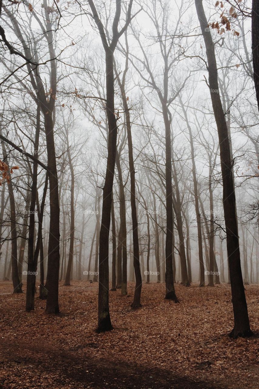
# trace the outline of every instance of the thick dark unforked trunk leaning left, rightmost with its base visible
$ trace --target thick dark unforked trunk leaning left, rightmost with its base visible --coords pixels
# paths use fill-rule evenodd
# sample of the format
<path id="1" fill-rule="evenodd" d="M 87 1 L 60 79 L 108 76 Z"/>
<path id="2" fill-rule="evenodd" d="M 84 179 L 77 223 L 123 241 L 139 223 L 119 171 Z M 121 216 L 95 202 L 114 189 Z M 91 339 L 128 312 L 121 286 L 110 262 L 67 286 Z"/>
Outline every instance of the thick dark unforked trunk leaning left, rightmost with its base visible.
<path id="1" fill-rule="evenodd" d="M 240 263 L 235 187 L 233 183 L 233 175 L 231 172 L 233 161 L 231 161 L 228 128 L 224 116 L 224 111 L 222 109 L 221 97 L 219 95 L 215 47 L 210 30 L 208 28 L 208 21 L 203 9 L 202 0 L 195 0 L 195 5 L 201 26 L 201 33 L 203 35 L 206 47 L 209 75 L 208 83 L 219 135 L 223 186 L 223 209 L 226 225 L 229 273 L 234 311 L 234 328 L 231 331 L 230 336 L 235 338 L 237 336 L 251 336 L 252 331 L 249 324 L 247 302 L 245 298 Z"/>

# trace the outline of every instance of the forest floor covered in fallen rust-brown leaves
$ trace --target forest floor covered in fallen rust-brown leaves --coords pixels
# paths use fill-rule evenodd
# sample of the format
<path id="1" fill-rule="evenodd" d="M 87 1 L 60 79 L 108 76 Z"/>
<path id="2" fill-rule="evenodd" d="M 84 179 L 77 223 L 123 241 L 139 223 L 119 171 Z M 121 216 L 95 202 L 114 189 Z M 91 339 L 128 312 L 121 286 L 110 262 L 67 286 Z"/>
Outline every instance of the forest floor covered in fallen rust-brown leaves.
<path id="1" fill-rule="evenodd" d="M 164 300 L 164 284 L 143 284 L 135 311 L 133 283 L 128 296 L 110 292 L 114 330 L 98 334 L 97 283 L 60 285 L 61 314 L 49 316 L 39 298 L 25 312 L 25 293 L 1 282 L 0 388 L 258 389 L 258 335 L 228 337 L 230 286 L 175 288 L 180 304 Z M 246 296 L 258 331 L 259 286 Z"/>

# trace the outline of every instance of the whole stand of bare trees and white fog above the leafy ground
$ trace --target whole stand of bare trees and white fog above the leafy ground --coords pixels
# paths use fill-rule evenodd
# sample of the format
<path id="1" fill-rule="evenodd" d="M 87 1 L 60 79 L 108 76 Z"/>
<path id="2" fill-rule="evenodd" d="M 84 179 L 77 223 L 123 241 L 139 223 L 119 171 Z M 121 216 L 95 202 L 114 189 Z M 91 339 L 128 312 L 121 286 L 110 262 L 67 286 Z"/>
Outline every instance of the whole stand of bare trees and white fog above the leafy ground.
<path id="1" fill-rule="evenodd" d="M 251 7 L 1 3 L 0 275 L 26 290 L 27 311 L 35 287 L 58 314 L 59 284 L 98 282 L 97 330 L 107 331 L 109 293 L 126 295 L 129 281 L 132 309 L 145 282 L 165 283 L 175 303 L 176 282 L 230 283 L 231 336 L 252 335 L 243 287 L 259 283 Z"/>

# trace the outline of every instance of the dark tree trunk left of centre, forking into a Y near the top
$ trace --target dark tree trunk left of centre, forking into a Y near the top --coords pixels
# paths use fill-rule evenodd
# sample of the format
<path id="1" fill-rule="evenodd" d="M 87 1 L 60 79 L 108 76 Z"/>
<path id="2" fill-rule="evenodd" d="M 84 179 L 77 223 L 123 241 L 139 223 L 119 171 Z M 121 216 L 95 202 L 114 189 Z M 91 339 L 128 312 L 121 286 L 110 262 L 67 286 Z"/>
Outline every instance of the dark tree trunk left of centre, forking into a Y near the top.
<path id="1" fill-rule="evenodd" d="M 99 293 L 98 293 L 98 327 L 97 331 L 109 331 L 112 329 L 109 312 L 109 232 L 110 214 L 112 207 L 112 186 L 114 180 L 115 158 L 117 148 L 117 121 L 114 109 L 114 50 L 119 37 L 126 31 L 131 20 L 131 7 L 133 0 L 129 1 L 126 23 L 119 32 L 119 19 L 121 16 L 121 0 L 116 2 L 116 11 L 112 24 L 112 40 L 108 44 L 103 24 L 98 16 L 93 0 L 88 0 L 92 17 L 96 23 L 103 48 L 105 50 L 105 75 L 106 75 L 106 114 L 108 119 L 108 157 L 103 187 L 103 209 L 100 230 L 100 251 L 99 251 Z"/>

